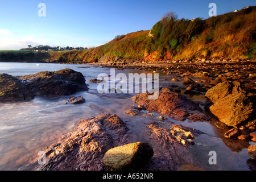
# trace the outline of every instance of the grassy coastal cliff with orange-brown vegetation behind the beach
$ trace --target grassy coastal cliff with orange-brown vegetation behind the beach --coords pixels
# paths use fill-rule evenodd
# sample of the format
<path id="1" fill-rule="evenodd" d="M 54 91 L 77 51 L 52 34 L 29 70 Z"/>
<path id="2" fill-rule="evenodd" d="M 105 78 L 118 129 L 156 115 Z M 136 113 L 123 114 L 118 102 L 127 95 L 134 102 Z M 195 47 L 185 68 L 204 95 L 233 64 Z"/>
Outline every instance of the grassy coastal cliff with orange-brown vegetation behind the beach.
<path id="1" fill-rule="evenodd" d="M 256 6 L 208 19 L 177 19 L 169 13 L 151 30 L 118 35 L 80 51 L 0 52 L 0 61 L 43 63 L 134 63 L 255 58 Z"/>

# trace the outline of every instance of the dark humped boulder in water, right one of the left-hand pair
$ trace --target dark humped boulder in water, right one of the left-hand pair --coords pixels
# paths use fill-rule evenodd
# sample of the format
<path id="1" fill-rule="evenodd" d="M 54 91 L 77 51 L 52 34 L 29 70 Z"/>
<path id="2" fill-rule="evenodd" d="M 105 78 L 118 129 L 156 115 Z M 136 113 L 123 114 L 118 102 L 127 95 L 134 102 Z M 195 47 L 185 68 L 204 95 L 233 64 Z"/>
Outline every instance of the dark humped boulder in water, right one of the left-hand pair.
<path id="1" fill-rule="evenodd" d="M 44 71 L 18 78 L 26 80 L 26 86 L 36 96 L 67 96 L 88 90 L 82 73 L 73 71 L 73 69 L 61 69 L 55 72 Z"/>

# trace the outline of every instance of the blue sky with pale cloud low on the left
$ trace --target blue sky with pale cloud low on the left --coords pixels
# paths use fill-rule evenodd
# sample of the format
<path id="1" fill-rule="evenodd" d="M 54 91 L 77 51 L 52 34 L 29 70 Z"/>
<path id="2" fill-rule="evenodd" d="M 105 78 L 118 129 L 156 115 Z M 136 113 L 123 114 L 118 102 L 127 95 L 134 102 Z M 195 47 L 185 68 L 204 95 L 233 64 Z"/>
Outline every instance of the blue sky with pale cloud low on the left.
<path id="1" fill-rule="evenodd" d="M 116 35 L 150 30 L 162 16 L 174 11 L 178 18 L 209 18 L 209 3 L 217 15 L 255 6 L 255 0 L 0 0 L 0 50 L 20 49 L 31 44 L 96 47 Z M 46 16 L 38 16 L 39 3 Z"/>

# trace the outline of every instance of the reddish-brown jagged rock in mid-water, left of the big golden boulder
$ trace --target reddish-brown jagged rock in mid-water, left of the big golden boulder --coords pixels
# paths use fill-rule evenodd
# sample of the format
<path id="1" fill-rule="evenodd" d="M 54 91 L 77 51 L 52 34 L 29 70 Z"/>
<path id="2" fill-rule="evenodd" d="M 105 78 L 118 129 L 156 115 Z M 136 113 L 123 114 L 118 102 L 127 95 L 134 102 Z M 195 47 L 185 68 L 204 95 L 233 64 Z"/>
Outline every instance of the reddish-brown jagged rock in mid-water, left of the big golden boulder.
<path id="1" fill-rule="evenodd" d="M 199 105 L 168 88 L 162 88 L 156 100 L 148 100 L 148 93 L 139 93 L 133 97 L 133 101 L 146 110 L 164 114 L 177 121 L 184 121 L 186 118 L 191 121 L 209 119 Z"/>

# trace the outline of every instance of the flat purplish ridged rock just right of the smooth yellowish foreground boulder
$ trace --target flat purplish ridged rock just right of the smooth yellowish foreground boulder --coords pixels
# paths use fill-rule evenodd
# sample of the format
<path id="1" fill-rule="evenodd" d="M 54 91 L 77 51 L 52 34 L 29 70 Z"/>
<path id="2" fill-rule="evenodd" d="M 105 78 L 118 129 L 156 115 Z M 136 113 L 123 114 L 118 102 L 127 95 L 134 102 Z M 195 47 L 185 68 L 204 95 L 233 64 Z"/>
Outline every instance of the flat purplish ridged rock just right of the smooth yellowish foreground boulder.
<path id="1" fill-rule="evenodd" d="M 192 143 L 190 141 L 184 142 L 184 140 L 204 134 L 203 132 L 180 125 L 174 125 L 172 129 L 168 130 L 158 122 L 151 122 L 148 123 L 146 133 L 151 140 L 159 145 L 161 150 L 155 152 L 151 159 L 151 166 L 148 166 L 148 169 L 176 170 L 183 164 L 199 166 L 187 148 Z"/>

